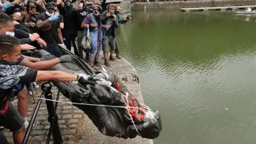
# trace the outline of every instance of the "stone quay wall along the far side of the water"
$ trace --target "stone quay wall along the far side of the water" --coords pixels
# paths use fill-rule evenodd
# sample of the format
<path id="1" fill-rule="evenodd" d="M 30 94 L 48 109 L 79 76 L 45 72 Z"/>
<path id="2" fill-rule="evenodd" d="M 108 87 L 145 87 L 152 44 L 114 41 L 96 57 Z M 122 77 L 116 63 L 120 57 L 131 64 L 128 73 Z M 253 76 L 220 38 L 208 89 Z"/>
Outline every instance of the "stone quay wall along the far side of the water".
<path id="1" fill-rule="evenodd" d="M 158 3 L 132 3 L 131 9 L 171 9 L 188 7 L 220 7 L 220 6 L 243 6 L 256 5 L 255 0 L 209 0 L 209 1 L 176 1 L 176 2 L 158 2 Z"/>

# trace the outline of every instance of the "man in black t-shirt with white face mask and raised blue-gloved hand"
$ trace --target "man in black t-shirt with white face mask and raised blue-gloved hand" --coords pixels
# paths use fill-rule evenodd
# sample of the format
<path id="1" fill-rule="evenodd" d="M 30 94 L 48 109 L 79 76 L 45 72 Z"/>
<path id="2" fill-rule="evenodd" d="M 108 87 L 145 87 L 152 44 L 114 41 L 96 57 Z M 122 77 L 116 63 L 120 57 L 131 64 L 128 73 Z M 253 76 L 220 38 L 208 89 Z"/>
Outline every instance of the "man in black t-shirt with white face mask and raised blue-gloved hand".
<path id="1" fill-rule="evenodd" d="M 61 46 L 66 47 L 61 35 L 60 21 L 58 20 L 58 15 L 54 15 L 54 4 L 47 3 L 45 7 L 46 12 L 40 14 L 36 21 L 38 33 L 47 43 L 47 46 L 42 47 L 42 49 L 59 58 L 61 57 L 61 51 L 58 46 L 58 41 L 61 43 Z"/>

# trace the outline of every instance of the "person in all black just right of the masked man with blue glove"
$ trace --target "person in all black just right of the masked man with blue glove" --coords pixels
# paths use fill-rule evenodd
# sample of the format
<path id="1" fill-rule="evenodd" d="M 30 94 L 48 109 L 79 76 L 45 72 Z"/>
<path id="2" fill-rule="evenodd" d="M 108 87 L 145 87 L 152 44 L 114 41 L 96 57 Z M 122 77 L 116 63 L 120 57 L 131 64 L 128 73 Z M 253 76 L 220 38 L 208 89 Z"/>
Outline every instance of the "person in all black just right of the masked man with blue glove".
<path id="1" fill-rule="evenodd" d="M 71 18 L 70 16 L 71 12 L 75 11 L 75 9 L 71 4 L 72 4 L 71 0 L 57 2 L 59 12 L 60 14 L 63 15 L 64 23 L 65 23 L 65 27 L 62 30 L 63 41 L 67 46 L 68 50 L 71 50 L 71 43 L 72 43 L 74 47 L 74 52 L 79 57 L 76 44 L 75 44 L 77 31 L 76 31 L 76 28 L 74 27 L 75 22 L 73 21 L 73 18 Z"/>

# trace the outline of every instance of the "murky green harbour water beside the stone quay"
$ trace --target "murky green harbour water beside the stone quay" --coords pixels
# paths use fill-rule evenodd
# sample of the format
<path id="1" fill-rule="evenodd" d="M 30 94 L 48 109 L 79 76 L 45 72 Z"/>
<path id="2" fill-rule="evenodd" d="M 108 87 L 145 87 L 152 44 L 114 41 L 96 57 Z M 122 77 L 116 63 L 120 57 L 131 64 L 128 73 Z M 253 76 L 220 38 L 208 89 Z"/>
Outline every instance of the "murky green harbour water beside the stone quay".
<path id="1" fill-rule="evenodd" d="M 136 10 L 116 30 L 147 106 L 154 143 L 256 143 L 256 15 Z"/>

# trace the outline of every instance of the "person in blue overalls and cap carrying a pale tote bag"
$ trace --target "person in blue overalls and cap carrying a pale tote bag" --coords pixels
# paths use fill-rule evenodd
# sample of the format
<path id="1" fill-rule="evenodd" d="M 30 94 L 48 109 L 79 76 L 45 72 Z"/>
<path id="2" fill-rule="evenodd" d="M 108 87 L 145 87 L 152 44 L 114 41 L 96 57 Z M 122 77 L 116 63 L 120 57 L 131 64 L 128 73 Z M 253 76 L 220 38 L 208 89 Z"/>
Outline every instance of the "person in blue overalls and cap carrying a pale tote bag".
<path id="1" fill-rule="evenodd" d="M 90 29 L 90 38 L 91 38 L 91 52 L 89 56 L 89 65 L 91 67 L 98 65 L 99 63 L 99 55 L 100 48 L 102 42 L 102 28 L 106 28 L 106 26 L 102 26 L 100 19 L 101 5 L 94 4 L 93 13 L 87 15 L 81 25 L 81 28 L 84 28 L 84 36 L 87 35 L 87 29 Z"/>

